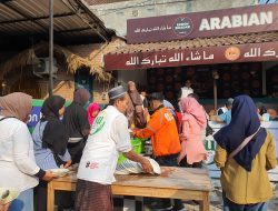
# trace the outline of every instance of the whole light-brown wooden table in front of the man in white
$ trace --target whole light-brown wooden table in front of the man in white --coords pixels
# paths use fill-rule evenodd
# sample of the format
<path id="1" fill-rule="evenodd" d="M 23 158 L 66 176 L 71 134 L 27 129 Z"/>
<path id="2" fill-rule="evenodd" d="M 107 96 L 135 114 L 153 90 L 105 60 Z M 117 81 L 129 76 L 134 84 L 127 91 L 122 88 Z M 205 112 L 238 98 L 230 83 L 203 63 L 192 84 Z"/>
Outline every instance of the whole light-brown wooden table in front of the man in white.
<path id="1" fill-rule="evenodd" d="M 117 182 L 112 184 L 112 193 L 196 200 L 200 202 L 201 211 L 209 211 L 209 192 L 212 185 L 207 170 L 163 167 L 162 172 L 161 175 L 116 175 Z M 76 173 L 71 173 L 48 183 L 48 211 L 54 209 L 54 191 L 75 191 L 76 182 Z"/>

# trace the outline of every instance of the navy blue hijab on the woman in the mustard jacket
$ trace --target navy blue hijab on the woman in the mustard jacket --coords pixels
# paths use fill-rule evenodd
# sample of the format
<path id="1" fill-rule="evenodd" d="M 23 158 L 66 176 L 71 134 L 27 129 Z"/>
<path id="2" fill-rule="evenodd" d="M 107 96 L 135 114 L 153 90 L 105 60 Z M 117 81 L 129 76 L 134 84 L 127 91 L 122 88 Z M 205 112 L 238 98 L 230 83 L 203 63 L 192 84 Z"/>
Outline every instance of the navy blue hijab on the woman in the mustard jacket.
<path id="1" fill-rule="evenodd" d="M 222 149 L 231 153 L 247 137 L 254 134 L 259 127 L 260 121 L 252 99 L 248 96 L 239 96 L 235 98 L 232 103 L 231 122 L 220 129 L 214 138 Z M 237 163 L 247 171 L 251 171 L 251 162 L 259 153 L 266 137 L 266 129 L 260 128 L 251 141 L 234 157 Z"/>

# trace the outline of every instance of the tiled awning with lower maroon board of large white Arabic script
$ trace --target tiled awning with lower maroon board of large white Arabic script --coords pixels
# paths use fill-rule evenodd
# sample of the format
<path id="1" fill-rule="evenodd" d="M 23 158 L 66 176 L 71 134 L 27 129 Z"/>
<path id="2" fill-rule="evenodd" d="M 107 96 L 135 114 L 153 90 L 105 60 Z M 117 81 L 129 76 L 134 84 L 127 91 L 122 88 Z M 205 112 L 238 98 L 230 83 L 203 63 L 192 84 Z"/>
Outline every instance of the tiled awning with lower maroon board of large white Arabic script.
<path id="1" fill-rule="evenodd" d="M 105 56 L 105 70 L 278 60 L 278 32 L 127 44 Z"/>

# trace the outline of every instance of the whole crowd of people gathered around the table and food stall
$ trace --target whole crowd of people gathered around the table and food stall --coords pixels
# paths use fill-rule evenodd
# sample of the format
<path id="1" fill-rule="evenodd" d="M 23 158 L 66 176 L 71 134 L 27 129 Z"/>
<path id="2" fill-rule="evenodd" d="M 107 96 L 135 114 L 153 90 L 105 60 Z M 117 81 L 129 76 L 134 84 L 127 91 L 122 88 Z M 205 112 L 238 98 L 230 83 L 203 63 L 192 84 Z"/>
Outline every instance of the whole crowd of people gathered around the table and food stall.
<path id="1" fill-rule="evenodd" d="M 179 109 L 160 92 L 146 94 L 142 89 L 139 93 L 132 81 L 128 90 L 122 86 L 110 89 L 110 101 L 103 109 L 96 102 L 89 104 L 91 96 L 85 88 L 75 91 L 67 108 L 62 97 L 51 96 L 43 102 L 42 118 L 32 134 L 27 127 L 32 98 L 21 92 L 1 97 L 0 188 L 13 188 L 20 194 L 8 204 L 0 203 L 0 211 L 47 210 L 47 183 L 56 178 L 51 169 L 75 163 L 79 163 L 75 200 L 61 193 L 58 205 L 111 211 L 119 153 L 140 163 L 146 173 L 153 171 L 148 159 L 132 151 L 130 133 L 151 139 L 152 158 L 160 165 L 203 168 L 203 141 L 212 133 L 209 119 L 227 123 L 214 134 L 224 210 L 267 210 L 272 197 L 267 170 L 274 169 L 277 160 L 274 138 L 260 127 L 262 108 L 250 97 L 238 96 L 209 117 L 189 89 L 190 81 L 187 83 Z M 150 209 L 182 211 L 185 207 L 179 199 L 153 199 Z"/>

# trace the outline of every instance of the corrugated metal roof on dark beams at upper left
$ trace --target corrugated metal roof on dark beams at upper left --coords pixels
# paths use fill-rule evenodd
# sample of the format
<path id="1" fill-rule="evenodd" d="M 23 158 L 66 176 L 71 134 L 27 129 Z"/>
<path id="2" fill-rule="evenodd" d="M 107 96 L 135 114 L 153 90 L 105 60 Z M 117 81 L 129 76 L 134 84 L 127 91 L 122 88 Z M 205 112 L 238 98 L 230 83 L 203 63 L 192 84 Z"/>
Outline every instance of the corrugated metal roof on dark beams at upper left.
<path id="1" fill-rule="evenodd" d="M 53 1 L 54 41 L 100 42 L 113 32 L 81 0 Z M 49 31 L 48 0 L 0 0 L 0 46 L 12 37 L 44 36 Z"/>

